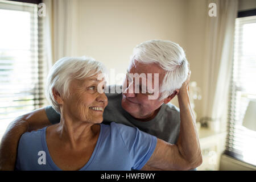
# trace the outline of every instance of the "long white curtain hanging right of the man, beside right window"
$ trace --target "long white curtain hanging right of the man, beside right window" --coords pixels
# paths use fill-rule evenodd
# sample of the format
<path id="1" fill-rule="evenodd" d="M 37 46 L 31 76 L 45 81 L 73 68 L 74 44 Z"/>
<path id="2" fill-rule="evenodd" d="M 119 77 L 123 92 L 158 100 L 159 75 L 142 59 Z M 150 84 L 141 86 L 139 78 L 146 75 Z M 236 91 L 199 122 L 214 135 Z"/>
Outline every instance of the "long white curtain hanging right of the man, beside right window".
<path id="1" fill-rule="evenodd" d="M 217 5 L 217 16 L 207 16 L 202 108 L 210 128 L 220 131 L 225 130 L 223 123 L 228 109 L 238 1 L 215 0 L 208 1 L 208 5 L 212 2 Z"/>

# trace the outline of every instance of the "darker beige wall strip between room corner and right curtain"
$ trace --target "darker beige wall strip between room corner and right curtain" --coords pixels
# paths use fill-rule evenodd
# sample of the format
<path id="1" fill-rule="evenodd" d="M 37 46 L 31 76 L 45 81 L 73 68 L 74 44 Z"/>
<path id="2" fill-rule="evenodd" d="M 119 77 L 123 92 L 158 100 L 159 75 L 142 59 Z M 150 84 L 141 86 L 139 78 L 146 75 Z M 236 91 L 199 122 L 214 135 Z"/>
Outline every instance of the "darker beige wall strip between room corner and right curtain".
<path id="1" fill-rule="evenodd" d="M 205 20 L 208 16 L 207 1 L 188 0 L 185 3 L 185 46 L 183 47 L 191 68 L 191 81 L 196 81 L 197 86 L 203 87 L 203 64 L 205 43 Z M 205 99 L 205 98 L 203 98 Z M 171 101 L 178 106 L 177 98 Z M 202 117 L 202 101 L 195 100 L 197 120 Z"/>

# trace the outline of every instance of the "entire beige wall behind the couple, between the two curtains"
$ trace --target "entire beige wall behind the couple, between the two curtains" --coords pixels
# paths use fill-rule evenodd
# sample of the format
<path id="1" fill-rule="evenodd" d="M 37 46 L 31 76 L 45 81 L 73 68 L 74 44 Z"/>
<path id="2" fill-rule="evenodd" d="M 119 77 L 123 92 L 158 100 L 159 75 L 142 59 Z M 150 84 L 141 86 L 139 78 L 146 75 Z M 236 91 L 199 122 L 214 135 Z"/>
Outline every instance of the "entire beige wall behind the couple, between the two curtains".
<path id="1" fill-rule="evenodd" d="M 79 56 L 102 61 L 115 73 L 125 73 L 133 48 L 146 40 L 171 40 L 184 48 L 191 81 L 203 85 L 205 16 L 202 0 L 79 1 Z M 117 81 L 118 82 L 118 81 Z M 201 101 L 196 113 L 201 117 Z M 175 98 L 172 103 L 178 105 Z"/>

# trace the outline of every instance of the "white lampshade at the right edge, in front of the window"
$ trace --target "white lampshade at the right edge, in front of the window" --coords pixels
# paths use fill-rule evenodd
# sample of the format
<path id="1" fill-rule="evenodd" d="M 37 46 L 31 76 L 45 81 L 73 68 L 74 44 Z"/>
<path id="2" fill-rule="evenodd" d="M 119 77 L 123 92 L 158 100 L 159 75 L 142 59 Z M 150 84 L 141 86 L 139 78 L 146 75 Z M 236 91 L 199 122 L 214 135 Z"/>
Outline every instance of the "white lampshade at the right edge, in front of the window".
<path id="1" fill-rule="evenodd" d="M 243 126 L 249 130 L 256 131 L 256 101 L 251 100 L 247 106 L 245 117 L 243 118 Z"/>

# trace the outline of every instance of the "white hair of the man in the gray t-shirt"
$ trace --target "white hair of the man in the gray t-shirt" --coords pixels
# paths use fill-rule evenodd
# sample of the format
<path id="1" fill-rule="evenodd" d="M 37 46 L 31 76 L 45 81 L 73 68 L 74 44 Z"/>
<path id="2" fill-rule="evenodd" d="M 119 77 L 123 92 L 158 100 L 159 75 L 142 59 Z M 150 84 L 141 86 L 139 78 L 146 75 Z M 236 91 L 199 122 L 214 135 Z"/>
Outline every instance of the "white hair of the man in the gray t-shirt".
<path id="1" fill-rule="evenodd" d="M 167 98 L 176 89 L 180 89 L 188 76 L 188 61 L 183 48 L 167 40 L 150 40 L 136 46 L 131 61 L 139 63 L 156 63 L 165 72 L 162 83 L 159 82 L 159 100 Z M 160 81 L 160 80 L 159 80 Z"/>

